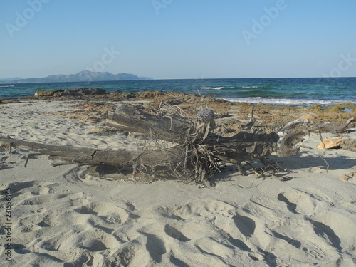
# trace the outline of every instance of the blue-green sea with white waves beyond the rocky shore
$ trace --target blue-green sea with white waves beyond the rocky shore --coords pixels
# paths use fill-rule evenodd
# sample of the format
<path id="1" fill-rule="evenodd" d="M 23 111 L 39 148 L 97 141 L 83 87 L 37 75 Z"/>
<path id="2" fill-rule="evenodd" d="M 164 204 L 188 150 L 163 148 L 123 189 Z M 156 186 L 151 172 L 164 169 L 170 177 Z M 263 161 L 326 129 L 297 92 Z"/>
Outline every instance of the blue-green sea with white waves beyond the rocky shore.
<path id="1" fill-rule="evenodd" d="M 34 95 L 37 90 L 103 88 L 107 93 L 161 90 L 212 95 L 234 102 L 275 105 L 356 104 L 356 78 L 234 78 L 184 80 L 118 80 L 75 83 L 2 83 L 0 98 Z"/>

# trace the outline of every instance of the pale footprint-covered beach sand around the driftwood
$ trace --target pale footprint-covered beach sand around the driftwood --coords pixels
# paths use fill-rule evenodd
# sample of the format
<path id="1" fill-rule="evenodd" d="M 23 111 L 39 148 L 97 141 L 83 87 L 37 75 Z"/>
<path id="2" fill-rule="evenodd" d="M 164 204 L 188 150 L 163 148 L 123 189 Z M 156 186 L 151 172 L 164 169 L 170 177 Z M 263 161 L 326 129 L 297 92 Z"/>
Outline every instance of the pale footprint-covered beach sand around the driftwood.
<path id="1" fill-rule="evenodd" d="M 88 135 L 98 125 L 41 115 L 68 103 L 29 104 L 0 105 L 0 134 L 100 149 L 140 145 Z M 312 135 L 304 145 L 319 142 Z M 1 196 L 1 266 L 354 266 L 356 177 L 345 182 L 342 174 L 356 172 L 356 153 L 327 150 L 327 172 L 323 152 L 272 155 L 290 171 L 279 179 L 242 177 L 229 166 L 216 187 L 199 188 L 98 179 L 85 167 L 51 167 L 46 157 L 24 168 L 27 152 L 3 147 L 0 190 L 11 189 L 12 206 L 9 262 Z"/>

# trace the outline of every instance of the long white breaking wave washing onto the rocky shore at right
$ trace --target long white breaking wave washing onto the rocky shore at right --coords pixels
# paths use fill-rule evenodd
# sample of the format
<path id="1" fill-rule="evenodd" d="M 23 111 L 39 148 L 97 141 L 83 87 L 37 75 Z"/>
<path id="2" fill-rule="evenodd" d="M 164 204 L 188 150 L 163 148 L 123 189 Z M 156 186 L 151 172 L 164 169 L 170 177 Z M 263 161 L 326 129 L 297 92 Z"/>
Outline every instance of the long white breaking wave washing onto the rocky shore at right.
<path id="1" fill-rule="evenodd" d="M 236 103 L 263 103 L 263 104 L 270 104 L 270 105 L 296 105 L 300 107 L 310 107 L 312 105 L 321 105 L 321 106 L 328 106 L 328 105 L 336 105 L 340 103 L 351 102 L 355 103 L 355 100 L 310 100 L 310 99 L 286 99 L 286 98 L 221 98 L 230 102 Z"/>

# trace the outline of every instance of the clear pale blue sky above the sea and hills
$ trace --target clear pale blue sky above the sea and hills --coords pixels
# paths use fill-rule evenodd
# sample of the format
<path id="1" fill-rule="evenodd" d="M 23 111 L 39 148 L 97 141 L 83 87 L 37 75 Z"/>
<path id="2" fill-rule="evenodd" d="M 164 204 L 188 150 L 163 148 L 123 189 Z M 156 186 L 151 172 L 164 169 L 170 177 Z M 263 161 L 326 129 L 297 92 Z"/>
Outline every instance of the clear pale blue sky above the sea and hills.
<path id="1" fill-rule="evenodd" d="M 356 76 L 355 0 L 0 0 L 0 78 Z"/>

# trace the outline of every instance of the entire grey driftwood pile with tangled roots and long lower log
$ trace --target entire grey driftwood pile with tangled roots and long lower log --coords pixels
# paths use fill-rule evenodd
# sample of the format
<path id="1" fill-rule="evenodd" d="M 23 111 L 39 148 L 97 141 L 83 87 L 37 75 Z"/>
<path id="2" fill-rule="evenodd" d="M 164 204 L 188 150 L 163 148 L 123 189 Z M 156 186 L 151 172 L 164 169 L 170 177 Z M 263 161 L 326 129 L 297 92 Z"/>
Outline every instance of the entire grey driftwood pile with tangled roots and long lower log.
<path id="1" fill-rule="evenodd" d="M 176 145 L 157 150 L 94 150 L 89 148 L 61 147 L 0 137 L 2 145 L 23 147 L 37 154 L 49 155 L 54 165 L 111 165 L 131 167 L 133 178 L 175 177 L 185 181 L 204 182 L 214 172 L 219 172 L 226 162 L 236 164 L 241 174 L 246 174 L 241 162 L 259 159 L 268 164 L 266 157 L 276 152 L 280 157 L 295 155 L 295 145 L 303 141 L 308 132 L 291 131 L 293 122 L 283 127 L 283 136 L 276 132 L 253 133 L 241 131 L 233 137 L 221 137 L 215 127 L 214 111 L 201 109 L 195 118 L 174 113 L 157 116 L 135 107 L 118 105 L 108 115 L 107 125 L 120 130 L 142 132 L 150 139 L 169 140 Z M 288 132 L 289 131 L 289 132 Z M 34 155 L 36 155 L 36 153 Z"/>

